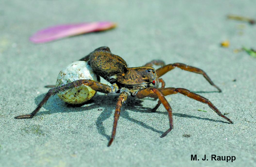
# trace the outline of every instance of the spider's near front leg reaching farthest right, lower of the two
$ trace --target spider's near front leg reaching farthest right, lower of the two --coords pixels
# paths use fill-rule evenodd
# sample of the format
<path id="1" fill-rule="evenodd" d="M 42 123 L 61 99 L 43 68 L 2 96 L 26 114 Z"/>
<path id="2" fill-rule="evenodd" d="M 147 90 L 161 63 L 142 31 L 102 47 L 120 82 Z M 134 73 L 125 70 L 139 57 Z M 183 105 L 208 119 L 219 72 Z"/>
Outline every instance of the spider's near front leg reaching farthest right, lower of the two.
<path id="1" fill-rule="evenodd" d="M 136 94 L 137 98 L 144 98 L 144 97 L 153 97 L 156 98 L 156 94 L 151 90 L 152 88 L 146 88 L 146 89 L 142 89 L 139 90 Z M 225 115 L 221 114 L 221 112 L 217 109 L 217 107 L 215 107 L 208 99 L 206 99 L 205 97 L 200 96 L 199 94 L 190 92 L 187 89 L 184 88 L 160 88 L 159 89 L 161 92 L 163 92 L 164 96 L 170 95 L 170 94 L 177 94 L 177 93 L 181 93 L 191 99 L 197 100 L 199 102 L 208 104 L 208 106 L 214 111 L 216 112 L 219 116 L 221 116 L 222 118 L 226 119 L 229 123 L 233 124 L 233 122 L 226 117 Z"/>

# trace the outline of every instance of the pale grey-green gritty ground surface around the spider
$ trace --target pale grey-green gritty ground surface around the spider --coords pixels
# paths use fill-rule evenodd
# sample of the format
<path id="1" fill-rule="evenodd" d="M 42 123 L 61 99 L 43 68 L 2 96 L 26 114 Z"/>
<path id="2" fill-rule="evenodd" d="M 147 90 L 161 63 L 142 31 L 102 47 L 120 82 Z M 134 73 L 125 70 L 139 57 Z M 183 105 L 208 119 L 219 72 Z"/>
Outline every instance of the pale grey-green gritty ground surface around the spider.
<path id="1" fill-rule="evenodd" d="M 226 19 L 227 14 L 256 18 L 255 5 L 249 0 L 2 0 L 0 166 L 256 166 L 256 58 L 233 52 L 242 46 L 255 48 L 256 27 Z M 100 20 L 118 27 L 45 44 L 28 40 L 48 26 Z M 224 40 L 230 41 L 229 48 L 220 47 Z M 35 109 L 48 91 L 44 86 L 55 84 L 63 67 L 99 46 L 109 46 L 130 67 L 162 59 L 204 69 L 222 93 L 201 75 L 180 69 L 163 79 L 167 87 L 205 96 L 229 113 L 234 124 L 181 94 L 166 97 L 174 129 L 164 138 L 159 138 L 168 129 L 164 106 L 151 113 L 157 101 L 129 97 L 111 147 L 107 143 L 118 95 L 97 93 L 92 103 L 79 108 L 54 96 L 33 119 L 14 119 Z M 191 161 L 191 154 L 199 161 Z M 205 154 L 208 161 L 201 160 Z M 211 161 L 212 154 L 236 160 Z"/>

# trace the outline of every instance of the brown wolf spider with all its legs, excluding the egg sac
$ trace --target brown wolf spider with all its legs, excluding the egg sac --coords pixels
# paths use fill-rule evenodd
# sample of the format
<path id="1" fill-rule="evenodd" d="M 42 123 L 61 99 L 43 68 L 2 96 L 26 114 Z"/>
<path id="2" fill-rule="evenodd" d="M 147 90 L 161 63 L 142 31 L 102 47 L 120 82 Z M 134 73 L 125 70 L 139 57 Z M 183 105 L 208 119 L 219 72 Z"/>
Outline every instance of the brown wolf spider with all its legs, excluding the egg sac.
<path id="1" fill-rule="evenodd" d="M 126 62 L 120 56 L 112 54 L 109 47 L 107 46 L 102 46 L 95 49 L 87 56 L 81 58 L 80 61 L 89 61 L 93 71 L 98 76 L 101 76 L 110 82 L 112 85 L 109 86 L 94 80 L 82 79 L 54 87 L 45 94 L 44 99 L 37 105 L 36 109 L 32 113 L 16 116 L 15 118 L 33 118 L 33 116 L 35 116 L 36 113 L 40 110 L 42 105 L 45 104 L 52 95 L 68 89 L 72 89 L 74 87 L 78 87 L 80 85 L 86 85 L 90 86 L 93 90 L 102 93 L 119 93 L 114 113 L 112 135 L 108 146 L 112 144 L 115 138 L 121 106 L 126 101 L 129 94 L 131 94 L 132 97 L 139 99 L 145 97 L 151 97 L 155 99 L 158 98 L 158 103 L 155 108 L 152 109 L 152 112 L 155 112 L 161 103 L 164 105 L 168 112 L 170 128 L 160 137 L 166 136 L 173 128 L 172 108 L 170 107 L 168 101 L 165 99 L 165 96 L 170 94 L 181 93 L 189 98 L 208 104 L 208 106 L 219 116 L 225 118 L 229 123 L 233 124 L 233 122 L 228 117 L 221 114 L 221 112 L 205 97 L 202 97 L 184 88 L 165 88 L 165 81 L 159 78 L 168 71 L 178 67 L 186 71 L 203 75 L 212 86 L 216 87 L 218 91 L 221 92 L 221 89 L 217 87 L 211 81 L 208 75 L 199 68 L 188 66 L 182 63 L 165 65 L 165 63 L 161 60 L 153 60 L 142 67 L 128 68 Z M 162 67 L 155 70 L 152 68 L 153 65 L 161 65 Z M 161 88 L 158 88 L 159 83 L 161 83 Z"/>

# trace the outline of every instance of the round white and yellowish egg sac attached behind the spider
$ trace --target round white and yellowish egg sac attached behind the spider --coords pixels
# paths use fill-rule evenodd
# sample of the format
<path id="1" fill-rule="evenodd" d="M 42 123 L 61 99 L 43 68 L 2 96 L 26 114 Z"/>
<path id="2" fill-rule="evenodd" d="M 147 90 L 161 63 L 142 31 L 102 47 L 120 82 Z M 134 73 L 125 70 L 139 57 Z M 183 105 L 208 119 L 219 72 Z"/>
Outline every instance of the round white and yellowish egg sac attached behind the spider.
<path id="1" fill-rule="evenodd" d="M 99 82 L 97 75 L 92 71 L 88 62 L 76 61 L 60 71 L 57 77 L 56 87 L 80 79 L 91 79 Z M 91 89 L 89 86 L 81 85 L 73 88 L 72 90 L 69 89 L 60 92 L 58 93 L 58 96 L 69 104 L 82 104 L 90 100 L 95 93 L 96 91 Z"/>

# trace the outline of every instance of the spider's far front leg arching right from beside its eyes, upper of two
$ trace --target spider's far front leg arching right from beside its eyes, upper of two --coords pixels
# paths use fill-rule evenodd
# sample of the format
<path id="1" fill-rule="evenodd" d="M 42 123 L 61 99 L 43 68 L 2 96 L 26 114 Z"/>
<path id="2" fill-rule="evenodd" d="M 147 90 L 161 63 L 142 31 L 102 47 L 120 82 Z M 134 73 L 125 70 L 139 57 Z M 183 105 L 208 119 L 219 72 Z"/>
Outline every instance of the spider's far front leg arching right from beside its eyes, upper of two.
<path id="1" fill-rule="evenodd" d="M 174 63 L 174 64 L 168 64 L 166 66 L 163 66 L 161 68 L 158 68 L 156 70 L 156 74 L 158 77 L 164 75 L 165 73 L 167 73 L 168 71 L 174 69 L 175 67 L 178 67 L 180 69 L 183 69 L 183 70 L 186 70 L 186 71 L 190 71 L 190 72 L 193 72 L 193 73 L 197 73 L 197 74 L 202 74 L 205 79 L 212 85 L 214 86 L 215 88 L 217 88 L 219 90 L 219 92 L 221 92 L 221 89 L 216 86 L 210 79 L 210 77 L 205 73 L 205 71 L 199 69 L 199 68 L 196 68 L 196 67 L 192 67 L 192 66 L 188 66 L 186 64 L 183 64 L 183 63 Z"/>

